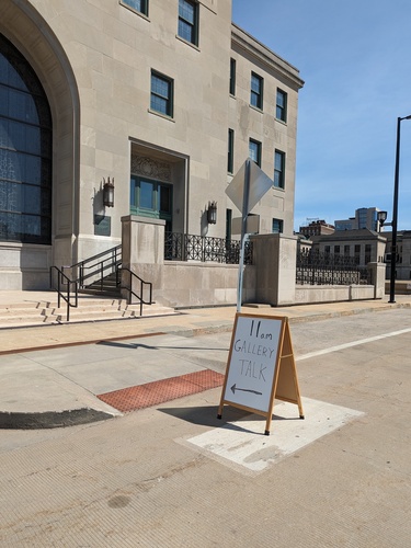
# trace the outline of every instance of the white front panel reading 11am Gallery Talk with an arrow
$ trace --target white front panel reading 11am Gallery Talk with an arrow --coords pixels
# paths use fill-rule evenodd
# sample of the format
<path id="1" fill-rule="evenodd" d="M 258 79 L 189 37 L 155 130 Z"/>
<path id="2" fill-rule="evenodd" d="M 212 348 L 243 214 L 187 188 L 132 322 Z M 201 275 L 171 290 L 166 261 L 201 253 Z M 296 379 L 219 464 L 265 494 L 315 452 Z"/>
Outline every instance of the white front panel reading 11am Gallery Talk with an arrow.
<path id="1" fill-rule="evenodd" d="M 224 400 L 267 413 L 278 358 L 281 319 L 238 316 Z"/>

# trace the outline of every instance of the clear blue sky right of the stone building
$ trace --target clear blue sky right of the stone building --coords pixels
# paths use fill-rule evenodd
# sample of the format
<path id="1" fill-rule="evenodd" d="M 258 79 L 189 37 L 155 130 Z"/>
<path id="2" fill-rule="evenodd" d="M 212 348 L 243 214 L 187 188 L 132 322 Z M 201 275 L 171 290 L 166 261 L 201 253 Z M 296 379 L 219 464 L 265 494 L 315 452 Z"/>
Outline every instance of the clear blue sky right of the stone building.
<path id="1" fill-rule="evenodd" d="M 358 207 L 391 220 L 397 118 L 411 114 L 411 1 L 232 0 L 232 20 L 306 82 L 295 229 Z M 398 228 L 411 230 L 411 119 L 401 122 Z"/>

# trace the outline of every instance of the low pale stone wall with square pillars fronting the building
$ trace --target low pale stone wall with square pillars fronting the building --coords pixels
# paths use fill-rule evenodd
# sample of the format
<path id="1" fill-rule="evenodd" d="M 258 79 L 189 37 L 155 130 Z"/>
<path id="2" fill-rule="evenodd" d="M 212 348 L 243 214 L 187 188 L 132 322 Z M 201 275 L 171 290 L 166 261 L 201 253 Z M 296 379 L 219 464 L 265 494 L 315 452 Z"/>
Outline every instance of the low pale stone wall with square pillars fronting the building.
<path id="1" fill-rule="evenodd" d="M 123 222 L 123 265 L 151 282 L 153 300 L 171 307 L 235 305 L 239 266 L 220 263 L 164 261 L 164 225 L 158 219 L 126 216 Z M 384 296 L 383 263 L 370 263 L 376 285 L 296 286 L 297 237 L 259 235 L 250 238 L 253 264 L 244 267 L 242 301 L 285 306 Z M 129 274 L 123 283 L 129 286 Z M 134 289 L 139 294 L 139 284 Z M 127 297 L 127 292 L 124 293 Z M 147 296 L 145 296 L 147 298 Z M 134 299 L 135 301 L 137 299 Z"/>

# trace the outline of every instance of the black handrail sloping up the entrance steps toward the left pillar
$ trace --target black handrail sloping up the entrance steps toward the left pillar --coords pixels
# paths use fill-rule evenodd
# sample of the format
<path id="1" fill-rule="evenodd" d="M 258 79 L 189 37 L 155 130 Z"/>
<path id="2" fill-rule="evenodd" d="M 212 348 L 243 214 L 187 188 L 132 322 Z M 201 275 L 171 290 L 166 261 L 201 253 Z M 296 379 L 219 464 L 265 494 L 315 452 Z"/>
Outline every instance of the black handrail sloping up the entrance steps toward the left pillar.
<path id="1" fill-rule="evenodd" d="M 122 264 L 122 246 L 116 246 L 96 255 L 84 259 L 71 266 L 61 266 L 61 272 L 70 272 L 70 278 L 78 283 L 79 288 L 87 286 L 87 283 L 99 283 L 103 290 L 103 281 L 107 274 L 116 273 L 118 282 L 118 269 Z"/>

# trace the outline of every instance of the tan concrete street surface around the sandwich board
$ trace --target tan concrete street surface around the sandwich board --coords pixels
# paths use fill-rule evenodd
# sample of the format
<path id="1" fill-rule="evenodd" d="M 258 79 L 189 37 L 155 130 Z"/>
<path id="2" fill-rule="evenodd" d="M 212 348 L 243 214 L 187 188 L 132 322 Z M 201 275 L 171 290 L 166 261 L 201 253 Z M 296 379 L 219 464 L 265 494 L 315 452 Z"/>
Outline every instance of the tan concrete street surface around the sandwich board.
<path id="1" fill-rule="evenodd" d="M 276 403 L 269 437 L 261 416 L 226 407 L 217 420 L 221 388 L 82 426 L 1 431 L 0 546 L 408 546 L 411 311 L 290 332 L 306 420 Z M 139 341 L 224 373 L 230 333 Z M 316 421 L 326 431 L 309 439 Z M 241 437 L 221 456 L 207 439 L 225 432 Z M 251 439 L 252 457 L 230 458 Z"/>

